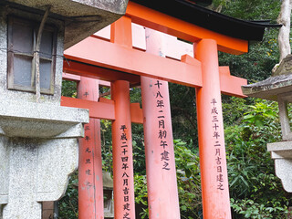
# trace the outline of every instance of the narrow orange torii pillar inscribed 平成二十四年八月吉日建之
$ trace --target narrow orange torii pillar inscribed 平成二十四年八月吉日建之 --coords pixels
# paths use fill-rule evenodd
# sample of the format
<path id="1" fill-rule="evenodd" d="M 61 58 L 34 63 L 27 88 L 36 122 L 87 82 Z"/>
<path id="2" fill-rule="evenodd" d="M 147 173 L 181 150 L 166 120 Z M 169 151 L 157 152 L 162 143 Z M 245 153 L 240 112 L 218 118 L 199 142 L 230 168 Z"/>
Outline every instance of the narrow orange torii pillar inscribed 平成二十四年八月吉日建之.
<path id="1" fill-rule="evenodd" d="M 115 101 L 112 121 L 112 161 L 115 219 L 135 218 L 135 196 L 130 123 L 130 84 L 125 80 L 111 83 Z"/>

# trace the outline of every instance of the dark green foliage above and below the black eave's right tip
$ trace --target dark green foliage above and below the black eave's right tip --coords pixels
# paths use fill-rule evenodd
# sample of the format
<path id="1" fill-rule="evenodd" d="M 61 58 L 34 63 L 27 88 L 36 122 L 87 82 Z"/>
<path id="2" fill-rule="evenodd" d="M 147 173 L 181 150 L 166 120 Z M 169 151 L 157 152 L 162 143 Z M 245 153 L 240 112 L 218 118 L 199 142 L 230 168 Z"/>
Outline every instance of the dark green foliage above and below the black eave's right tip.
<path id="1" fill-rule="evenodd" d="M 271 20 L 276 23 L 280 5 L 281 2 L 276 0 L 234 0 L 225 4 L 222 13 L 244 20 Z M 241 56 L 220 52 L 220 65 L 229 66 L 233 75 L 248 78 L 250 82 L 268 78 L 279 59 L 277 35 L 277 28 L 266 29 L 263 40 L 251 44 L 249 52 Z"/>

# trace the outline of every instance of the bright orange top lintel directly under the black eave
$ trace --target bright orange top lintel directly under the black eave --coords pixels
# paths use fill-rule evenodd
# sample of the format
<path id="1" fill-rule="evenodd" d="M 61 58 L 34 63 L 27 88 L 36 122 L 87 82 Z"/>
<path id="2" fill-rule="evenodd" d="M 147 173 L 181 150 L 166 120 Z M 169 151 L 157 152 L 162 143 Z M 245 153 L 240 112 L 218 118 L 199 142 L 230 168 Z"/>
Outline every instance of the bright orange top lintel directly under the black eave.
<path id="1" fill-rule="evenodd" d="M 150 27 L 191 42 L 203 38 L 214 39 L 219 50 L 223 52 L 239 55 L 248 51 L 248 41 L 246 40 L 215 33 L 133 2 L 129 2 L 126 15 L 131 17 L 132 22 L 141 26 Z"/>

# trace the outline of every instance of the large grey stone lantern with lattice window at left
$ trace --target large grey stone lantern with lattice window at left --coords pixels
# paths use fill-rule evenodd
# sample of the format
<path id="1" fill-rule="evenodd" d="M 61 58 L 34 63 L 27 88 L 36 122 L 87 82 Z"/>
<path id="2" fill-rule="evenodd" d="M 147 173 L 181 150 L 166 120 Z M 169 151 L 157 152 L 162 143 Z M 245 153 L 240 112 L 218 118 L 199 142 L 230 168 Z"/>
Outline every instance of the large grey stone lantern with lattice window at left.
<path id="1" fill-rule="evenodd" d="M 0 218 L 40 219 L 78 167 L 88 110 L 60 107 L 63 50 L 125 13 L 127 0 L 0 1 Z"/>

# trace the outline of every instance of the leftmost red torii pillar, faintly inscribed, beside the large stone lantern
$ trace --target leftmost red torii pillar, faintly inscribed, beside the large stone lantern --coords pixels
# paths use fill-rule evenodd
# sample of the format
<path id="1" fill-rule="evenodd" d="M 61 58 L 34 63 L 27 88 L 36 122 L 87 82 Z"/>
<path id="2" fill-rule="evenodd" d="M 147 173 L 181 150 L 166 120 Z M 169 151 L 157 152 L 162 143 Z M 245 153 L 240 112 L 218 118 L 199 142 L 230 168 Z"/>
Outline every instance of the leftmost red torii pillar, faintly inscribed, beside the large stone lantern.
<path id="1" fill-rule="evenodd" d="M 81 77 L 78 99 L 98 101 L 99 80 Z M 104 211 L 99 120 L 90 118 L 84 136 L 79 140 L 78 218 L 99 219 Z"/>

